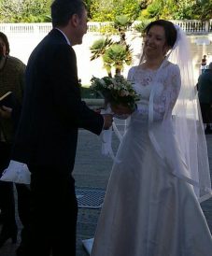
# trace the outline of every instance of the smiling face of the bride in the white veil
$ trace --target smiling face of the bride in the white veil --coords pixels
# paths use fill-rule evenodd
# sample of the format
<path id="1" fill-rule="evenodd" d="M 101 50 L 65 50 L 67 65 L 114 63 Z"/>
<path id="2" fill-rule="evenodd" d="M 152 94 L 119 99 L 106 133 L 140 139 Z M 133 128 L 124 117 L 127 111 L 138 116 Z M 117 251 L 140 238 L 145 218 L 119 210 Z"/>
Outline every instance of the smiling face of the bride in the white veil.
<path id="1" fill-rule="evenodd" d="M 162 26 L 153 25 L 145 38 L 144 53 L 147 58 L 163 58 L 168 50 Z"/>

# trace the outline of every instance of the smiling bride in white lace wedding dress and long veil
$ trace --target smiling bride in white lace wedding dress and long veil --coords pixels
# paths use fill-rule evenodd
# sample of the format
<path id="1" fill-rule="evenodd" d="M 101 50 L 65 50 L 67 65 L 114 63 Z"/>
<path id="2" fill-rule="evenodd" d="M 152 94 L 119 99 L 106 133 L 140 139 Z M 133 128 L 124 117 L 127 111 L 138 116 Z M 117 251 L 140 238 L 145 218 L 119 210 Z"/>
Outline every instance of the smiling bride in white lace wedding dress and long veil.
<path id="1" fill-rule="evenodd" d="M 146 33 L 141 63 L 128 76 L 140 102 L 112 168 L 92 256 L 209 256 L 199 204 L 211 196 L 205 135 L 191 74 L 168 61 L 182 34 L 163 20 Z"/>

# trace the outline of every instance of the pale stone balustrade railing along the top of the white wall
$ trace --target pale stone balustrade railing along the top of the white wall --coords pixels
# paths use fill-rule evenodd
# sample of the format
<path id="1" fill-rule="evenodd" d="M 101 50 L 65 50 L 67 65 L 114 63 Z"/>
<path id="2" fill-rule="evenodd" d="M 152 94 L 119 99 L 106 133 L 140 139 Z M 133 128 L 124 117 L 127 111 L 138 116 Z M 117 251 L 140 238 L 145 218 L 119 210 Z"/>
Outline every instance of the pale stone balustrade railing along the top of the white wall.
<path id="1" fill-rule="evenodd" d="M 130 31 L 134 31 L 134 24 L 140 21 L 134 21 Z M 208 34 L 212 33 L 212 20 L 209 21 L 173 21 L 179 25 L 187 34 Z M 89 33 L 100 33 L 105 31 L 113 22 L 88 22 Z M 51 23 L 0 23 L 0 31 L 5 34 L 47 34 L 51 30 Z"/>

